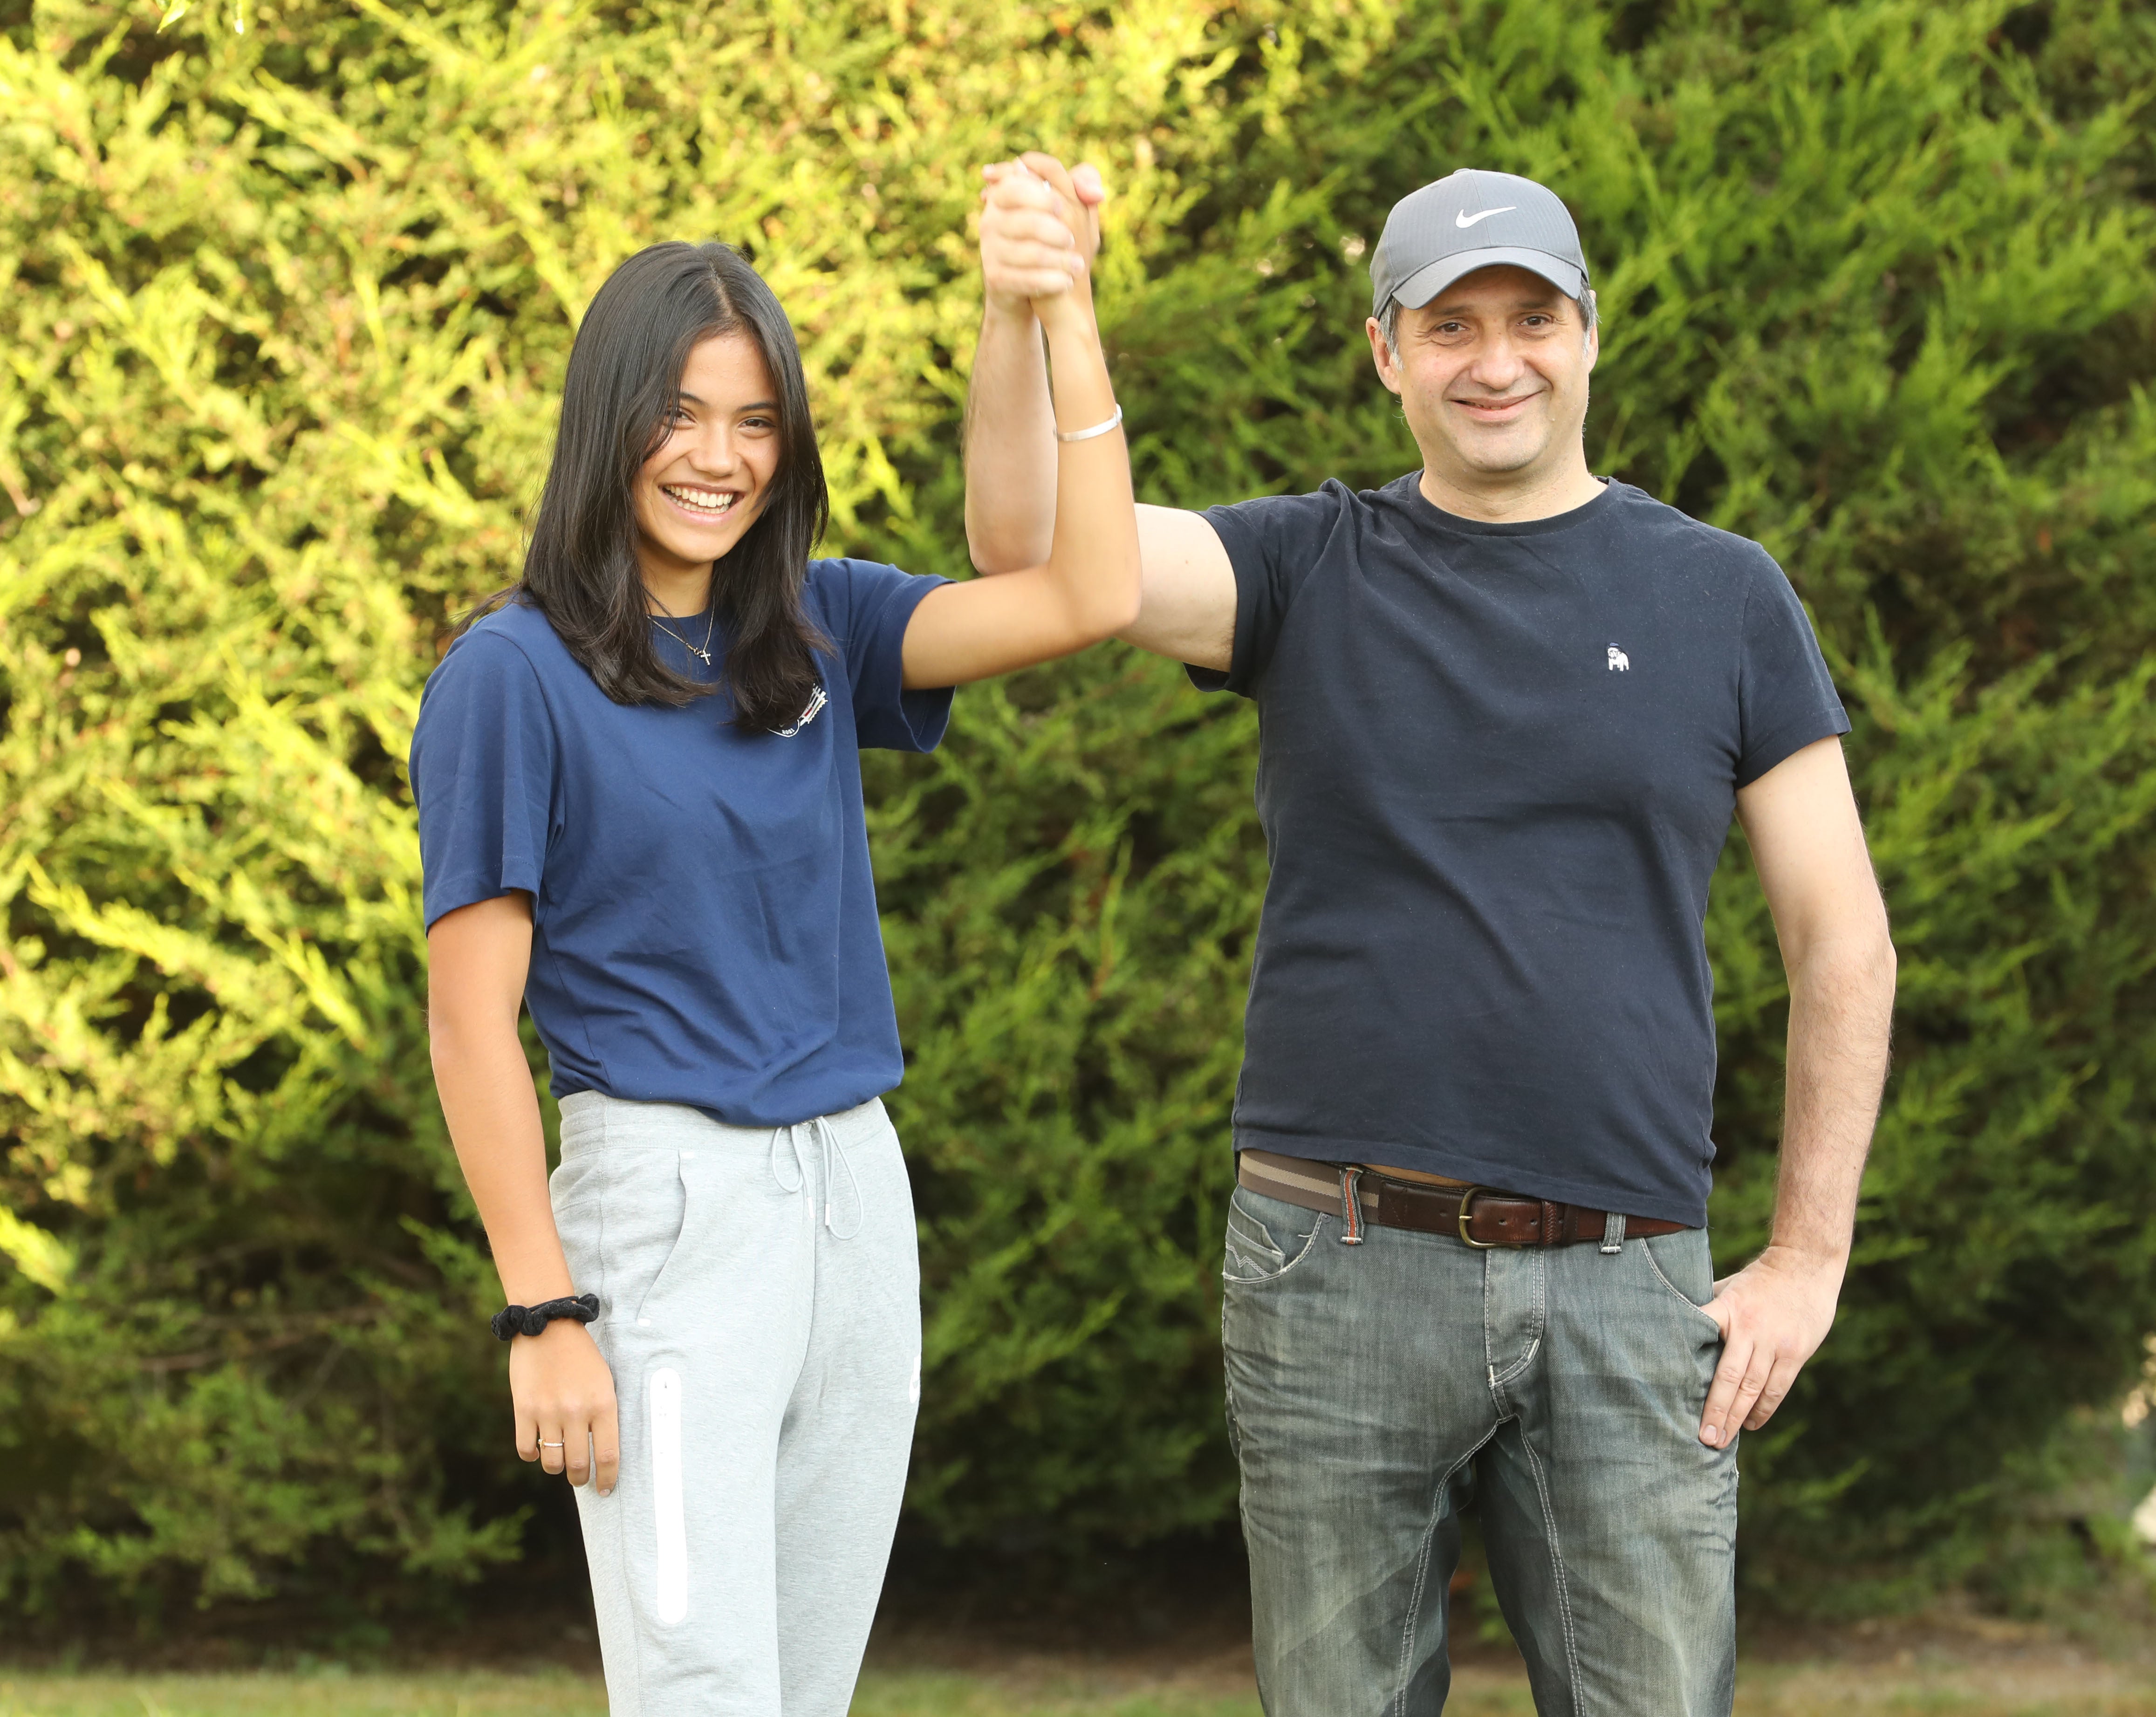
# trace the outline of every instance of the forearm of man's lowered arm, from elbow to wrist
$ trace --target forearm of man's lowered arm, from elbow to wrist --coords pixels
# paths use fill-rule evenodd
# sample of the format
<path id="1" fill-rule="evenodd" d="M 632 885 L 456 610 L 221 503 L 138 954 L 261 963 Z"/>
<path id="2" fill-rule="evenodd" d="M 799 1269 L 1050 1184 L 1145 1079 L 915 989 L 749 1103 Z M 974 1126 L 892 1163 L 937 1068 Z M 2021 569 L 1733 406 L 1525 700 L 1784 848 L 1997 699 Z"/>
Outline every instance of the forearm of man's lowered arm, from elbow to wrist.
<path id="1" fill-rule="evenodd" d="M 1841 1264 L 1856 1223 L 1893 1027 L 1893 945 L 1818 949 L 1789 975 L 1774 1247 Z"/>

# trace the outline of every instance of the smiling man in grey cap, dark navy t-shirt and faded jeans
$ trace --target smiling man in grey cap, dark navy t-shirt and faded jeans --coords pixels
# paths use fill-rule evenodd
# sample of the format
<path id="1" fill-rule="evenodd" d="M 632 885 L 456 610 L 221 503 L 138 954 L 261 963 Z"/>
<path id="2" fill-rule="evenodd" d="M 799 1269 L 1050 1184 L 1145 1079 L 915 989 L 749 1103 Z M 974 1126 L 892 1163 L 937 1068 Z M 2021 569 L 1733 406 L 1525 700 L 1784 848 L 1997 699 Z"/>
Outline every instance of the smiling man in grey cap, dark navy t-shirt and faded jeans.
<path id="1" fill-rule="evenodd" d="M 1024 298 L 1074 278 L 1097 183 L 990 179 L 966 500 L 1000 572 L 1054 511 Z M 1259 1689 L 1272 1717 L 1440 1711 L 1473 1497 L 1539 1711 L 1727 1713 L 1736 1439 L 1833 1322 L 1887 1072 L 1848 720 L 1766 550 L 1589 472 L 1595 298 L 1550 190 L 1423 186 L 1371 283 L 1423 468 L 1141 507 L 1121 634 L 1261 714 L 1222 1288 Z M 1789 1057 L 1772 1242 L 1714 1283 L 1701 925 L 1731 811 Z"/>

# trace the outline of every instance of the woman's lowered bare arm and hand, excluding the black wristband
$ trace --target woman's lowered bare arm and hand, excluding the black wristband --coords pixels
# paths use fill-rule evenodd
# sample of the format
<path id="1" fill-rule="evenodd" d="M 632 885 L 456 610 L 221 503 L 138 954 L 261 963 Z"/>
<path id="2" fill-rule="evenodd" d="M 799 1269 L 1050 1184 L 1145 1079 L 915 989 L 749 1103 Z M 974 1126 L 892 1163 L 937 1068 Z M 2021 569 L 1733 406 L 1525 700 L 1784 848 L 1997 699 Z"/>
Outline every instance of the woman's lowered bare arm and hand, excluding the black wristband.
<path id="1" fill-rule="evenodd" d="M 578 1292 L 545 1193 L 545 1135 L 517 1009 L 533 958 L 530 895 L 509 893 L 444 912 L 427 932 L 427 1038 L 442 1120 L 494 1247 L 511 1305 Z M 597 1467 L 614 1488 L 621 1437 L 614 1374 L 578 1322 L 509 1342 L 517 1456 L 582 1484 Z M 541 1447 L 558 1443 L 561 1447 Z"/>

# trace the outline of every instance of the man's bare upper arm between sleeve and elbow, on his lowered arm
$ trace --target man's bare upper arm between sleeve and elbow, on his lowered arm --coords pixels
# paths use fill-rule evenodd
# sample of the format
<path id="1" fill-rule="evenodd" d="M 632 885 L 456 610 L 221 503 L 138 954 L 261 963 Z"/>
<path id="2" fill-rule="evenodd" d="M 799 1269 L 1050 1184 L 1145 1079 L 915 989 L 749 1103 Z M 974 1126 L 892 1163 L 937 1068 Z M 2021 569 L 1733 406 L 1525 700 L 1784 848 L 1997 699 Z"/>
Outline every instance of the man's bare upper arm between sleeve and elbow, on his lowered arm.
<path id="1" fill-rule="evenodd" d="M 1884 925 L 1839 738 L 1813 740 L 1740 787 L 1738 820 L 1789 962 L 1822 938 Z"/>

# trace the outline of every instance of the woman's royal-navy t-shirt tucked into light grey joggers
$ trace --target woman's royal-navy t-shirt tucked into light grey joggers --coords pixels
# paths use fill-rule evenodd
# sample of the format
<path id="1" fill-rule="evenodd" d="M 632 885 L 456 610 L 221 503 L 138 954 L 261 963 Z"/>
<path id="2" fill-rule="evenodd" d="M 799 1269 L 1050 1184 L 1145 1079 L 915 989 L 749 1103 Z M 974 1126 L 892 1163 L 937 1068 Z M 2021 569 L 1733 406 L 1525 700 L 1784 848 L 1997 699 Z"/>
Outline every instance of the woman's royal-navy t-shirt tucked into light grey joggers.
<path id="1" fill-rule="evenodd" d="M 451 647 L 412 736 L 427 925 L 530 893 L 524 1001 L 554 1096 L 789 1126 L 899 1083 L 860 748 L 942 738 L 951 692 L 903 690 L 899 660 L 942 582 L 811 563 L 828 701 L 789 738 L 742 733 L 724 692 L 610 701 L 537 608 L 509 604 Z M 703 643 L 703 615 L 666 626 Z M 653 643 L 716 675 L 658 626 Z"/>

